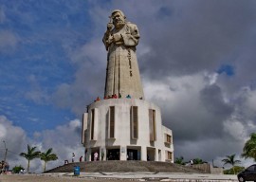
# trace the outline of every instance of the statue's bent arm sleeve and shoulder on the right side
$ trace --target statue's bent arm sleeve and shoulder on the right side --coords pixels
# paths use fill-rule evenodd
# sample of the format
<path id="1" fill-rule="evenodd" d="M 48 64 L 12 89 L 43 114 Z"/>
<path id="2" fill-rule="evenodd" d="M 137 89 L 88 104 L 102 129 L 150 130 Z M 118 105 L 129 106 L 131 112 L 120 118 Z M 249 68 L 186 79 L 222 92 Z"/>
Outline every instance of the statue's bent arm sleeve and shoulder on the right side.
<path id="1" fill-rule="evenodd" d="M 135 24 L 126 25 L 126 33 L 122 34 L 123 43 L 126 46 L 136 46 L 138 44 L 139 34 Z"/>

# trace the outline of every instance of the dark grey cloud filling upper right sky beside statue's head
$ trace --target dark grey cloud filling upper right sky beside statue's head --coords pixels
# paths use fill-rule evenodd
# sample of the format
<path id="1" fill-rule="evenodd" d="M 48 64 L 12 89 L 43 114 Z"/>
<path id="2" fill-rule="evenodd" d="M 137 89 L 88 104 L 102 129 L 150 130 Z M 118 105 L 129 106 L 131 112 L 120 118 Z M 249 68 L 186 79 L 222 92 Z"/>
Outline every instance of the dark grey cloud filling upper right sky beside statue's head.
<path id="1" fill-rule="evenodd" d="M 170 13 L 162 12 L 162 7 L 149 12 L 152 21 L 141 23 L 140 32 L 152 51 L 140 58 L 146 63 L 141 65 L 142 73 L 158 78 L 216 70 L 223 62 L 233 64 L 230 56 L 242 54 L 243 46 L 255 34 L 253 4 L 175 1 L 163 5 Z M 139 18 L 138 14 L 138 24 L 143 21 Z"/>

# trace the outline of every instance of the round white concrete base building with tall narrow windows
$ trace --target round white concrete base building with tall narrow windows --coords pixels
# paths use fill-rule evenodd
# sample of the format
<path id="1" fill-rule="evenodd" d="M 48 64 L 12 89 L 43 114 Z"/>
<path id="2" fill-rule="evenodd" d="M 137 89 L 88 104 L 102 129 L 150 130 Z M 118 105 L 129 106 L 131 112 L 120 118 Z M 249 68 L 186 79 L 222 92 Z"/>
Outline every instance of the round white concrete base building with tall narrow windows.
<path id="1" fill-rule="evenodd" d="M 134 113 L 132 108 L 136 108 Z M 87 161 L 94 159 L 95 152 L 100 160 L 113 159 L 112 152 L 119 160 L 174 162 L 172 130 L 162 125 L 159 107 L 146 100 L 108 99 L 90 104 L 83 114 L 82 143 Z"/>

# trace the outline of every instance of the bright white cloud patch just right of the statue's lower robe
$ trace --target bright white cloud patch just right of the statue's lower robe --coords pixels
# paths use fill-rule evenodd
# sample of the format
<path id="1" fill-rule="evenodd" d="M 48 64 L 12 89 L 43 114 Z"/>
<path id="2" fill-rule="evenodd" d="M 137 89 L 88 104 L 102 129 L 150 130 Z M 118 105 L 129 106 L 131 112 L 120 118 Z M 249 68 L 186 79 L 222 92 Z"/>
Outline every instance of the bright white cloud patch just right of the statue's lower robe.
<path id="1" fill-rule="evenodd" d="M 198 73 L 183 77 L 168 77 L 161 81 L 144 81 L 144 92 L 147 100 L 155 100 L 165 105 L 171 112 L 175 112 L 192 103 L 199 105 L 200 90 L 209 82 L 205 80 L 205 73 Z"/>

